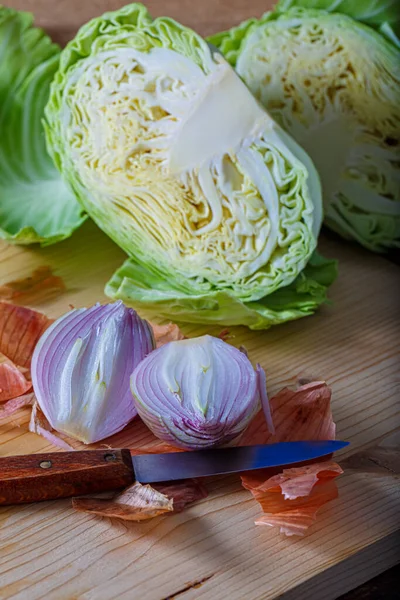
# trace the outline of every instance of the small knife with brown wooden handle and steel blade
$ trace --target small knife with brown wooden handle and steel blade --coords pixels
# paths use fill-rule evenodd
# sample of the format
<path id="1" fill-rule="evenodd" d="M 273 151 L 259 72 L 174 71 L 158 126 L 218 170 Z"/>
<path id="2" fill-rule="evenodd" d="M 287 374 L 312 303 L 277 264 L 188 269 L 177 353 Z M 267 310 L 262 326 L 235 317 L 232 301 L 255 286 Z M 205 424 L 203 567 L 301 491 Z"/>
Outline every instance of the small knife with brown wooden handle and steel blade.
<path id="1" fill-rule="evenodd" d="M 83 450 L 0 458 L 0 505 L 54 500 L 141 483 L 291 466 L 326 457 L 340 441 L 281 442 L 217 450 L 142 454 Z"/>

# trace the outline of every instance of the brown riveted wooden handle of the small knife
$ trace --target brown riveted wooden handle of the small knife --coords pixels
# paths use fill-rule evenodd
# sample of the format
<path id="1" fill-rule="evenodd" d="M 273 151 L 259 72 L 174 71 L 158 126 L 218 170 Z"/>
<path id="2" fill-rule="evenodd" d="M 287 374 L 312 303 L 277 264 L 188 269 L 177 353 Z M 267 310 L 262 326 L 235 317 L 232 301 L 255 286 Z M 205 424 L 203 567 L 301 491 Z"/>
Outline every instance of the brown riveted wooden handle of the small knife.
<path id="1" fill-rule="evenodd" d="M 0 505 L 105 492 L 133 483 L 129 450 L 84 450 L 0 458 Z"/>

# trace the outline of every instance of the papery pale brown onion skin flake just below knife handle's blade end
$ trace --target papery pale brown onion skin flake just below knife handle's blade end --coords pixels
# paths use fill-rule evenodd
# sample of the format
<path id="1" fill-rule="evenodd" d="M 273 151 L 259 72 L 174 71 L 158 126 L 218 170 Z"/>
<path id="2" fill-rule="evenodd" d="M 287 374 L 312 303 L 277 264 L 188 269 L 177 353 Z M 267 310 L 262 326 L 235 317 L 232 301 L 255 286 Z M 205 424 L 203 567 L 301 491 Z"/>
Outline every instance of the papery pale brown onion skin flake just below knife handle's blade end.
<path id="1" fill-rule="evenodd" d="M 72 507 L 81 512 L 124 521 L 145 521 L 174 510 L 173 500 L 150 485 L 142 485 L 137 481 L 111 500 L 73 498 Z"/>

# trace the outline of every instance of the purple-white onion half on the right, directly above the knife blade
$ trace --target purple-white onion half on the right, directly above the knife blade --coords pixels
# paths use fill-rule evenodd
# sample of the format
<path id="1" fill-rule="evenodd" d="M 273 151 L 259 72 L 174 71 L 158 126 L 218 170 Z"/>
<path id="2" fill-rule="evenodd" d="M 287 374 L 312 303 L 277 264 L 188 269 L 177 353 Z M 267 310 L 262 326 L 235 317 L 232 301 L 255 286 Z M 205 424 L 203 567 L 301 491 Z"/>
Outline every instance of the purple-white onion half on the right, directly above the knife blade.
<path id="1" fill-rule="evenodd" d="M 260 409 L 258 373 L 243 352 L 209 335 L 170 342 L 131 376 L 140 417 L 189 450 L 235 443 Z"/>

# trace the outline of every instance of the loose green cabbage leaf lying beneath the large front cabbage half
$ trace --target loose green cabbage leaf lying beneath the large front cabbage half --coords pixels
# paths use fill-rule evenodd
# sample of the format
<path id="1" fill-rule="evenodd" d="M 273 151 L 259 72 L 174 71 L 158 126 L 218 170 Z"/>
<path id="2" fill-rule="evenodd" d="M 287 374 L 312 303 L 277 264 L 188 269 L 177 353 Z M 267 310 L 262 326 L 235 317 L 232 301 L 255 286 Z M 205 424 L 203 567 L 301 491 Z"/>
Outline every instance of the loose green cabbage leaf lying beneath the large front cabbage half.
<path id="1" fill-rule="evenodd" d="M 315 313 L 328 302 L 327 289 L 336 277 L 337 262 L 314 252 L 290 285 L 260 300 L 243 302 L 224 290 L 188 293 L 185 286 L 171 281 L 162 271 L 146 269 L 127 259 L 108 282 L 106 293 L 154 317 L 268 329 Z"/>

